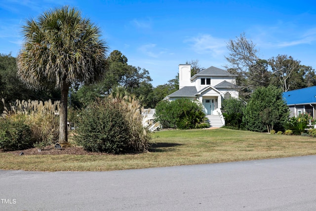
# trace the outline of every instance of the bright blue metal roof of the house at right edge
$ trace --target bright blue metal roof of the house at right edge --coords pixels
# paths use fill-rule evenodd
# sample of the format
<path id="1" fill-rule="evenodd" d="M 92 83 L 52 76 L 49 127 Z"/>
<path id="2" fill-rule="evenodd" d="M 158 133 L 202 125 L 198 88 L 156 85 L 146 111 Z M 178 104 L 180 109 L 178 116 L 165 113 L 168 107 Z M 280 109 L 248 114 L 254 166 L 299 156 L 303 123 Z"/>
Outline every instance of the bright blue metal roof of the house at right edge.
<path id="1" fill-rule="evenodd" d="M 287 105 L 316 104 L 316 86 L 283 92 Z"/>

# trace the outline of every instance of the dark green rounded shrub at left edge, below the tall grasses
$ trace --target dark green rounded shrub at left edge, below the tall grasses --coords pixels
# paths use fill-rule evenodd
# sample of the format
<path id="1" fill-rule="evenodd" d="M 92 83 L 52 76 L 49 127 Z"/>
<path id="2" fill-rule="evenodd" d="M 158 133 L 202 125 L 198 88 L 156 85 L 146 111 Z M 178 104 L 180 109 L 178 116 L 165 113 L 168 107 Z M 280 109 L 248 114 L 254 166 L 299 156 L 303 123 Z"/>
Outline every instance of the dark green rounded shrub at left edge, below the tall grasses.
<path id="1" fill-rule="evenodd" d="M 33 144 L 32 131 L 23 120 L 0 120 L 0 149 L 23 150 L 32 147 Z"/>

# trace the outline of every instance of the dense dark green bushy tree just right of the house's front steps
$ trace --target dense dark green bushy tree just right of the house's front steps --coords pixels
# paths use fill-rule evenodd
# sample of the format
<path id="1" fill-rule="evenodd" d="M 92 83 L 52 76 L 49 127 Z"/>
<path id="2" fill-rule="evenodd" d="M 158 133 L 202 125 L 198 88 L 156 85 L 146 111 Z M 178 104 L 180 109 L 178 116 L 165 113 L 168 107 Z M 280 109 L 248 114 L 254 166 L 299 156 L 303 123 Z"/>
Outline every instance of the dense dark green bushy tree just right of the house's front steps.
<path id="1" fill-rule="evenodd" d="M 243 125 L 251 131 L 268 132 L 282 129 L 288 120 L 289 109 L 282 97 L 282 90 L 275 86 L 258 87 L 250 97 L 242 118 Z"/>

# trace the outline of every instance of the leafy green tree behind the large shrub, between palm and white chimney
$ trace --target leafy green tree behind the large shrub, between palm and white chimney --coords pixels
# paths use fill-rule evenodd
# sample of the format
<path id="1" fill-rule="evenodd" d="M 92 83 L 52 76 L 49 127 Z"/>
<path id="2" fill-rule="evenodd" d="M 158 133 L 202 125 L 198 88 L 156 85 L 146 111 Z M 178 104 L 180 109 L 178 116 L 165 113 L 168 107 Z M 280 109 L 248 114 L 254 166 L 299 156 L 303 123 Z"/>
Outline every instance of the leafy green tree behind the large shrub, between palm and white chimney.
<path id="1" fill-rule="evenodd" d="M 118 50 L 110 53 L 108 61 L 109 68 L 102 81 L 82 86 L 75 93 L 76 106 L 85 107 L 97 98 L 104 98 L 117 86 L 122 86 L 130 94 L 134 94 L 142 106 L 152 106 L 149 95 L 153 91 L 153 85 L 150 83 L 152 79 L 149 72 L 146 69 L 128 65 L 127 58 Z"/>

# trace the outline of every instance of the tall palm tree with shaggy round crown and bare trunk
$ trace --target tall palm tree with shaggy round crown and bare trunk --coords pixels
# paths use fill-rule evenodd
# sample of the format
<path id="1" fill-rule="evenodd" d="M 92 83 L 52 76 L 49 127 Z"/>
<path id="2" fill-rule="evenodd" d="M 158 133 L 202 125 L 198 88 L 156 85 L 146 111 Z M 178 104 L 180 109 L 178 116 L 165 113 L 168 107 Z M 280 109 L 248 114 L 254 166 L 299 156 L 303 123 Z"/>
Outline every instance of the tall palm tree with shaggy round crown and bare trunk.
<path id="1" fill-rule="evenodd" d="M 100 29 L 75 8 L 63 6 L 27 19 L 17 56 L 18 76 L 34 89 L 61 91 L 59 142 L 67 138 L 67 99 L 71 84 L 91 84 L 107 70 L 108 46 Z"/>

